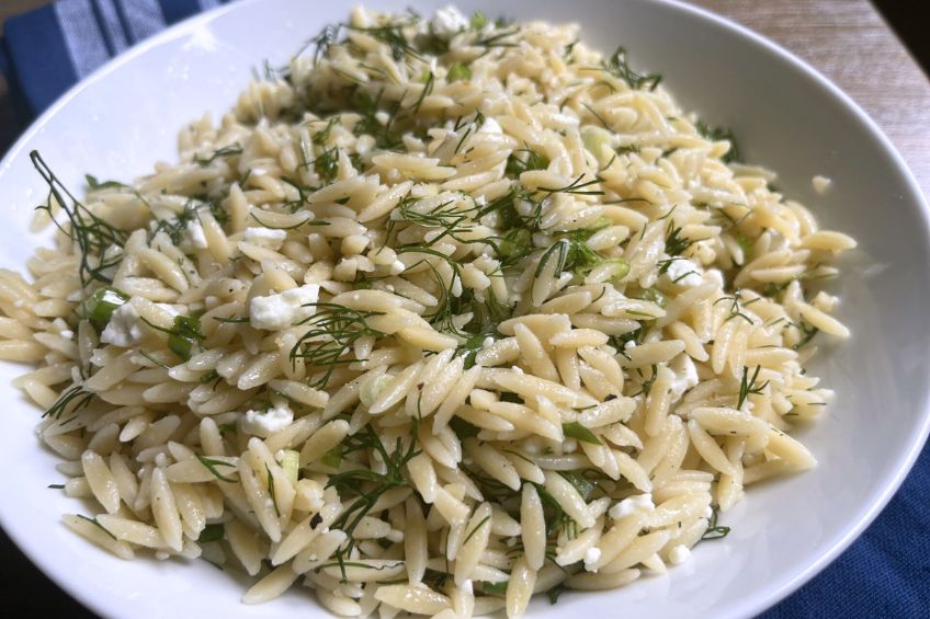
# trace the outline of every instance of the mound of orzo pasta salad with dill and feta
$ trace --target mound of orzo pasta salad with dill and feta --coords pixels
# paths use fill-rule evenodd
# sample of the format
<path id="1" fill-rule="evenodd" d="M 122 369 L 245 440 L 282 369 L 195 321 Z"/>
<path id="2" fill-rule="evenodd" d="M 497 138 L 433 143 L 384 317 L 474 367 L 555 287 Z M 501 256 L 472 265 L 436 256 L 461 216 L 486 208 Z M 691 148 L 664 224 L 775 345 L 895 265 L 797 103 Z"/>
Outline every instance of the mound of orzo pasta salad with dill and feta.
<path id="1" fill-rule="evenodd" d="M 247 603 L 519 617 L 814 466 L 854 241 L 578 36 L 356 9 L 151 175 L 79 199 L 33 153 L 57 240 L 0 273 L 0 357 L 98 506 L 65 524 Z"/>

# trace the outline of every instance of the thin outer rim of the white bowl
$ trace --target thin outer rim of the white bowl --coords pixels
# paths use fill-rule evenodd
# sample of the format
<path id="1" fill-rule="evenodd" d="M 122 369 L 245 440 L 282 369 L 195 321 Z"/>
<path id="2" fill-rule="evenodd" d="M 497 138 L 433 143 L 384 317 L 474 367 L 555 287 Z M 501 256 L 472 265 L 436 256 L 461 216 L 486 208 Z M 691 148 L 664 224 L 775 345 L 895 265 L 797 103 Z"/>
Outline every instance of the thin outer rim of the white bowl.
<path id="1" fill-rule="evenodd" d="M 896 171 L 900 174 L 900 176 L 905 180 L 907 190 L 910 191 L 914 197 L 917 198 L 919 205 L 919 217 L 923 223 L 923 236 L 930 238 L 930 205 L 928 205 L 927 197 L 925 196 L 919 183 L 914 176 L 914 173 L 908 168 L 900 152 L 891 141 L 891 139 L 885 135 L 882 128 L 873 121 L 869 114 L 862 110 L 862 107 L 846 92 L 843 92 L 838 85 L 836 85 L 832 81 L 830 81 L 826 76 L 824 76 L 816 68 L 807 64 L 805 60 L 801 59 L 794 53 L 785 49 L 778 43 L 770 41 L 769 38 L 758 34 L 757 32 L 730 20 L 724 18 L 717 13 L 708 9 L 704 9 L 702 7 L 696 7 L 693 4 L 689 4 L 683 0 L 634 0 L 634 1 L 650 1 L 658 4 L 665 4 L 667 7 L 671 7 L 678 11 L 682 11 L 684 13 L 691 13 L 692 16 L 697 16 L 702 20 L 716 24 L 717 26 L 722 26 L 726 30 L 733 31 L 741 37 L 749 41 L 749 43 L 755 44 L 759 47 L 762 47 L 764 50 L 778 57 L 781 61 L 786 62 L 792 66 L 794 69 L 799 70 L 807 78 L 814 80 L 814 82 L 821 89 L 824 89 L 829 95 L 839 100 L 840 104 L 852 111 L 855 115 L 857 119 L 862 123 L 865 128 L 872 134 L 872 137 L 877 138 L 878 144 L 885 150 L 885 154 L 889 156 L 891 160 L 894 162 L 894 167 Z M 20 152 L 25 148 L 25 145 L 30 142 L 33 137 L 42 130 L 43 126 L 52 118 L 55 114 L 58 113 L 59 110 L 68 105 L 71 100 L 73 100 L 79 93 L 83 92 L 84 89 L 92 88 L 94 83 L 104 79 L 107 74 L 117 70 L 122 66 L 134 61 L 138 56 L 145 55 L 150 48 L 158 47 L 163 43 L 167 43 L 177 37 L 183 36 L 196 27 L 207 24 L 214 20 L 217 20 L 227 13 L 231 13 L 238 10 L 241 10 L 243 5 L 257 4 L 261 2 L 261 0 L 238 0 L 236 2 L 229 2 L 227 4 L 223 4 L 216 7 L 214 9 L 209 9 L 202 13 L 192 15 L 186 18 L 180 22 L 177 22 L 163 31 L 155 34 L 154 36 L 138 43 L 126 51 L 115 56 L 110 59 L 103 66 L 91 72 L 89 76 L 83 78 L 81 81 L 72 85 L 68 89 L 64 94 L 61 94 L 55 103 L 53 103 L 45 112 L 43 112 L 37 118 L 35 118 L 32 124 L 30 124 L 29 128 L 23 131 L 23 134 L 16 139 L 13 146 L 7 151 L 2 159 L 0 159 L 0 169 L 3 168 L 8 163 L 8 161 L 20 156 Z M 930 377 L 928 377 L 930 378 Z M 928 382 L 930 385 L 930 382 Z M 776 604 L 785 599 L 787 596 L 799 589 L 806 583 L 810 582 L 817 574 L 824 571 L 830 563 L 832 563 L 844 550 L 847 550 L 853 541 L 855 541 L 872 524 L 872 521 L 882 513 L 882 511 L 887 506 L 888 502 L 895 495 L 895 493 L 900 488 L 901 483 L 904 483 L 905 478 L 910 472 L 914 467 L 917 458 L 920 456 L 925 444 L 928 440 L 928 436 L 930 436 L 930 404 L 926 405 L 922 411 L 922 420 L 920 425 L 920 431 L 914 437 L 914 440 L 908 446 L 908 449 L 904 451 L 898 458 L 894 468 L 894 474 L 885 480 L 884 486 L 877 493 L 877 496 L 874 496 L 871 505 L 855 517 L 855 519 L 850 523 L 843 534 L 837 538 L 830 549 L 821 554 L 814 563 L 794 574 L 786 583 L 774 587 L 762 587 L 759 591 L 759 595 L 752 596 L 750 599 L 745 601 L 741 606 L 737 606 L 736 608 L 731 608 L 728 616 L 730 617 L 755 617 L 764 612 L 768 609 L 771 609 Z M 4 531 L 10 530 L 9 527 L 5 526 L 5 515 L 4 511 L 0 508 L 0 527 L 4 529 Z M 111 608 L 105 603 L 105 600 L 101 598 L 94 598 L 86 595 L 86 592 L 81 589 L 77 583 L 72 580 L 70 573 L 60 568 L 57 563 L 45 563 L 39 560 L 39 553 L 36 548 L 32 545 L 31 540 L 27 538 L 15 537 L 14 535 L 8 534 L 10 539 L 16 545 L 16 547 L 25 554 L 30 561 L 38 568 L 46 576 L 48 576 L 57 586 L 64 589 L 68 595 L 78 600 L 84 607 L 90 610 L 101 615 L 101 616 L 111 616 Z"/>

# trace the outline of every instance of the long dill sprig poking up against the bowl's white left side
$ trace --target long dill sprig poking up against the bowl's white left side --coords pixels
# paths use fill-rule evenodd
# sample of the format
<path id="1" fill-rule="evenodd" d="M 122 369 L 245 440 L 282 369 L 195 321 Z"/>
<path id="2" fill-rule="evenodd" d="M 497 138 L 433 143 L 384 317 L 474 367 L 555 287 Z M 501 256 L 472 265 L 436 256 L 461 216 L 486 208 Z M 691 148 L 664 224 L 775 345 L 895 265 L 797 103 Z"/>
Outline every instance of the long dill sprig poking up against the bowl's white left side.
<path id="1" fill-rule="evenodd" d="M 126 242 L 128 234 L 124 230 L 104 221 L 81 204 L 48 168 L 48 164 L 45 163 L 45 160 L 42 159 L 37 150 L 30 152 L 30 159 L 43 181 L 48 185 L 48 197 L 45 204 L 36 208 L 48 213 L 55 226 L 70 237 L 78 245 L 81 256 L 79 267 L 81 283 L 87 285 L 89 282 L 95 279 L 110 284 L 112 277 L 106 274 L 106 271 L 120 264 L 123 260 L 123 254 L 117 251 L 112 252 L 111 257 L 104 256 L 106 255 L 106 251 L 112 248 L 121 249 Z M 68 199 L 65 199 L 65 196 Z M 66 228 L 55 219 L 53 198 L 68 217 L 69 227 Z"/>

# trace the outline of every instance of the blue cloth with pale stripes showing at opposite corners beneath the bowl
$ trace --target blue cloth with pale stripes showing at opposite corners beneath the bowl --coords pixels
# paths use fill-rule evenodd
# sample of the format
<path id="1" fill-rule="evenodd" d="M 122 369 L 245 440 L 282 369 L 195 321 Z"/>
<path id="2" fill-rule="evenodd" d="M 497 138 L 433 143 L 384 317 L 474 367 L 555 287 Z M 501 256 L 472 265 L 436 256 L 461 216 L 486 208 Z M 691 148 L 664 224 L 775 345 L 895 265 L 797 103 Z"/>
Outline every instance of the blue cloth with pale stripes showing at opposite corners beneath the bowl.
<path id="1" fill-rule="evenodd" d="M 161 27 L 227 0 L 57 0 L 10 19 L 0 68 L 23 123 Z M 402 4 L 402 3 L 401 3 Z M 842 557 L 764 619 L 930 617 L 930 450 Z"/>

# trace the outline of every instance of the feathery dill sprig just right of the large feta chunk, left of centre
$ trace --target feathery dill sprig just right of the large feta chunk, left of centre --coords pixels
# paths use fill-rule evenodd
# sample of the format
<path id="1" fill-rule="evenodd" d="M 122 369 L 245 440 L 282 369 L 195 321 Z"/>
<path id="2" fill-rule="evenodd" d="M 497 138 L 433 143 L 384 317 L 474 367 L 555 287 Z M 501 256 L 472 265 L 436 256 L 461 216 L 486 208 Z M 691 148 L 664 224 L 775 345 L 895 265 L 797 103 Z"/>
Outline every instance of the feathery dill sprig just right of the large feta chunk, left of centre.
<path id="1" fill-rule="evenodd" d="M 304 307 L 313 307 L 316 311 L 297 323 L 308 329 L 291 348 L 291 363 L 302 358 L 311 367 L 324 369 L 320 378 L 309 382 L 310 387 L 326 387 L 338 365 L 363 360 L 343 358 L 359 339 L 366 335 L 387 336 L 366 322 L 368 318 L 383 316 L 384 312 L 354 310 L 328 302 L 307 303 Z"/>

